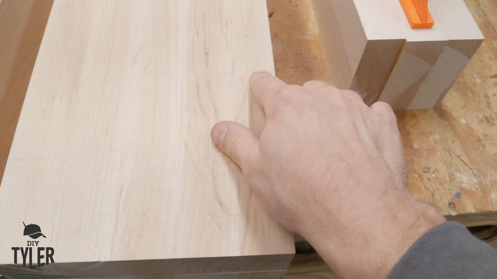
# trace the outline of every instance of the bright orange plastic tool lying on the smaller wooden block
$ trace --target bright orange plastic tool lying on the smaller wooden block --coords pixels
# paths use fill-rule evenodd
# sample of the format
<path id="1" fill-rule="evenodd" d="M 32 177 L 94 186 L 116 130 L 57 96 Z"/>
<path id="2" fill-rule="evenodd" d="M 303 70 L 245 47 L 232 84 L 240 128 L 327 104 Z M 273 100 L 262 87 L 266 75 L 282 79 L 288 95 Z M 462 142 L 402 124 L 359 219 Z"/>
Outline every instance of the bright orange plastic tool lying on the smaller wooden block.
<path id="1" fill-rule="evenodd" d="M 433 27 L 433 17 L 428 10 L 428 0 L 400 0 L 409 24 L 413 29 Z"/>

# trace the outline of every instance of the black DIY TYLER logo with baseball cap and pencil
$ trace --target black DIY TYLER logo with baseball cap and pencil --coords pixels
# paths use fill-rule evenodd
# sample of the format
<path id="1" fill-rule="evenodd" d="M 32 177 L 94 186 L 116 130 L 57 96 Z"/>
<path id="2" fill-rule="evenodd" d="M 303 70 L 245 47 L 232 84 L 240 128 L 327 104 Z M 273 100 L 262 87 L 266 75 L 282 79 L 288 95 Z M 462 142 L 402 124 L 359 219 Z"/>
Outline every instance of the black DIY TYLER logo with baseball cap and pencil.
<path id="1" fill-rule="evenodd" d="M 46 238 L 41 232 L 39 225 L 29 224 L 26 226 L 24 222 L 22 222 L 22 224 L 24 225 L 25 236 L 29 236 L 32 239 L 38 239 L 39 237 Z M 17 260 L 20 258 L 22 258 L 22 265 L 29 265 L 30 269 L 41 268 L 45 265 L 54 263 L 54 248 L 41 247 L 38 244 L 40 244 L 40 240 L 28 240 L 27 247 L 12 247 L 12 250 L 14 251 L 14 264 L 17 264 Z M 17 252 L 20 252 L 21 257 L 17 256 Z M 35 257 L 34 259 L 33 256 Z"/>

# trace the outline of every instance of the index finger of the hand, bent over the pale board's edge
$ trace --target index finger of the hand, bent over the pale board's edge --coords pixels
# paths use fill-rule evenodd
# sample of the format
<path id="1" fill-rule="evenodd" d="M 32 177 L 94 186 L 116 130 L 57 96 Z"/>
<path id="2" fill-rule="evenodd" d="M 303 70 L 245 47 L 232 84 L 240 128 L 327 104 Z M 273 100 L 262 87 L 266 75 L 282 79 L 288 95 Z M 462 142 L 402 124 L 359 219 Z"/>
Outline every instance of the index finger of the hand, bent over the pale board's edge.
<path id="1" fill-rule="evenodd" d="M 250 76 L 250 92 L 259 106 L 266 111 L 276 92 L 287 86 L 283 80 L 268 73 L 256 71 Z"/>

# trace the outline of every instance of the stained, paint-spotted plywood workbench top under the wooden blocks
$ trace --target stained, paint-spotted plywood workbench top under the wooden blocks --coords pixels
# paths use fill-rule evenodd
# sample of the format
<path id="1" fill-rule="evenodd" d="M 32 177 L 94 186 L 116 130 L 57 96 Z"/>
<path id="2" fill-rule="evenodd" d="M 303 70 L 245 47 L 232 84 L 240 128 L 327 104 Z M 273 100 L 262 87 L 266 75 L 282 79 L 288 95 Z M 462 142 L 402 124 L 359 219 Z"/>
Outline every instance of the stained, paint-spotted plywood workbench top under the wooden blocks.
<path id="1" fill-rule="evenodd" d="M 276 74 L 292 84 L 332 84 L 310 1 L 267 2 Z M 436 109 L 397 116 L 411 193 L 476 226 L 497 224 L 497 3 L 466 4 L 486 41 Z"/>

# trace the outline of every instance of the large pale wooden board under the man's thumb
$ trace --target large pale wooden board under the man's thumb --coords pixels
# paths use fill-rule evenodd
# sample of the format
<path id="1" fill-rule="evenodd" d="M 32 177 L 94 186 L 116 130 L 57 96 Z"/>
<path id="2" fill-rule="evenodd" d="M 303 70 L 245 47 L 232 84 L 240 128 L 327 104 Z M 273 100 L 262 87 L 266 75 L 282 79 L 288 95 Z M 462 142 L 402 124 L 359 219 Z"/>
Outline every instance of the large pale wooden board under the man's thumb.
<path id="1" fill-rule="evenodd" d="M 281 275 L 292 234 L 210 139 L 220 120 L 260 132 L 254 70 L 274 71 L 264 0 L 55 0 L 0 187 L 0 265 L 25 222 L 55 263 L 24 273 Z"/>

